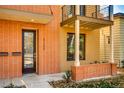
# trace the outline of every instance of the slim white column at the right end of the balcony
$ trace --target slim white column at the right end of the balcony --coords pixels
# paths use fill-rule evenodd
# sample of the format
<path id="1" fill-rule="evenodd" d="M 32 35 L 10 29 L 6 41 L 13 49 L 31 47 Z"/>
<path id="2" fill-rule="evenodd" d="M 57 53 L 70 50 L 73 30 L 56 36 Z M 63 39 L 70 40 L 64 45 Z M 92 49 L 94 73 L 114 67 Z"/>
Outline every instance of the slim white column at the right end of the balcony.
<path id="1" fill-rule="evenodd" d="M 113 21 L 113 6 L 110 5 L 110 20 Z M 110 39 L 111 39 L 111 63 L 114 63 L 114 35 L 113 35 L 113 25 L 110 26 Z"/>

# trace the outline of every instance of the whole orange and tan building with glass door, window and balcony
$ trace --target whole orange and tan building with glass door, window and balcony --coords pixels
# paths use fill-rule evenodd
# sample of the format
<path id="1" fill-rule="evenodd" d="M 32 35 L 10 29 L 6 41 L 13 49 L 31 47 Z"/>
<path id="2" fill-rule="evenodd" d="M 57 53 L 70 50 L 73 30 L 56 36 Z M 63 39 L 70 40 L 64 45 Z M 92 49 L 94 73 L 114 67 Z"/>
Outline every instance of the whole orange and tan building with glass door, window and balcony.
<path id="1" fill-rule="evenodd" d="M 0 78 L 58 73 L 100 61 L 100 30 L 113 25 L 112 10 L 98 5 L 0 6 Z"/>

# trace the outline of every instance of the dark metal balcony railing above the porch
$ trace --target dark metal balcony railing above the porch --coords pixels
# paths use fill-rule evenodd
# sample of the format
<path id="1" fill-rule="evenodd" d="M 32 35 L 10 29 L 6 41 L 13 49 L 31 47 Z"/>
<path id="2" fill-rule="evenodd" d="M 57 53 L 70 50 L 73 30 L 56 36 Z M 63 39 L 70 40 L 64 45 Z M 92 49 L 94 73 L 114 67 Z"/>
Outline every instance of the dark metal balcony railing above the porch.
<path id="1" fill-rule="evenodd" d="M 92 17 L 103 20 L 110 20 L 110 6 L 94 6 L 94 11 L 88 10 L 86 5 L 80 5 L 80 16 Z M 75 16 L 75 5 L 65 5 L 62 7 L 62 21 Z"/>

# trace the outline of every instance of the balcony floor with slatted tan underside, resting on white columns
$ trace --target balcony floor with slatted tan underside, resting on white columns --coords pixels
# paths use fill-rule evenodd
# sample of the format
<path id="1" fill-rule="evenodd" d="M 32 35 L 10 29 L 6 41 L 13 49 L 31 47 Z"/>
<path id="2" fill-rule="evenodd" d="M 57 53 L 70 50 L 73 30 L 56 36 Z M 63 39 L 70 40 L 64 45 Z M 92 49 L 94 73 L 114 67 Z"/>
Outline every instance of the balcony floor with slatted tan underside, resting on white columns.
<path id="1" fill-rule="evenodd" d="M 80 29 L 94 30 L 101 27 L 113 25 L 113 21 L 110 21 L 110 20 L 96 19 L 96 18 L 86 17 L 86 16 L 74 16 L 61 22 L 61 26 L 74 27 L 75 20 L 80 20 Z"/>

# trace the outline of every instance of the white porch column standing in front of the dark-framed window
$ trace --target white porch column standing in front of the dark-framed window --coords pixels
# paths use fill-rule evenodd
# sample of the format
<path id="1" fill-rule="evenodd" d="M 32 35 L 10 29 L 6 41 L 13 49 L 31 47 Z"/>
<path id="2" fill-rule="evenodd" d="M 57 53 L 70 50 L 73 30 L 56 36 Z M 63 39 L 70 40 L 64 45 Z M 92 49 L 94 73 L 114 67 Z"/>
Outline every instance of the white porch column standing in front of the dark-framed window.
<path id="1" fill-rule="evenodd" d="M 75 7 L 75 14 L 79 15 L 79 5 Z M 80 38 L 80 20 L 75 20 L 75 63 L 74 66 L 80 66 L 80 57 L 79 57 L 79 38 Z"/>

